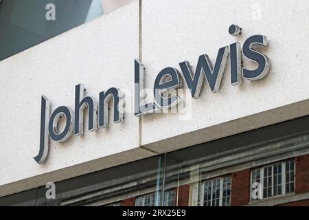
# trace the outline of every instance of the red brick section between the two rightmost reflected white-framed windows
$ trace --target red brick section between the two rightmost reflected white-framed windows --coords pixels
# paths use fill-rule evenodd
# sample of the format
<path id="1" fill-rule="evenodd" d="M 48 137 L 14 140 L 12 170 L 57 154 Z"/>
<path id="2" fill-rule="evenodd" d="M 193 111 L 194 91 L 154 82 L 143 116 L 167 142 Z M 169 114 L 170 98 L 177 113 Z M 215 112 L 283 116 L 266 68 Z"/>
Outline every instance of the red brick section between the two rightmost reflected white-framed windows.
<path id="1" fill-rule="evenodd" d="M 240 170 L 231 175 L 231 206 L 244 206 L 250 199 L 250 170 Z"/>

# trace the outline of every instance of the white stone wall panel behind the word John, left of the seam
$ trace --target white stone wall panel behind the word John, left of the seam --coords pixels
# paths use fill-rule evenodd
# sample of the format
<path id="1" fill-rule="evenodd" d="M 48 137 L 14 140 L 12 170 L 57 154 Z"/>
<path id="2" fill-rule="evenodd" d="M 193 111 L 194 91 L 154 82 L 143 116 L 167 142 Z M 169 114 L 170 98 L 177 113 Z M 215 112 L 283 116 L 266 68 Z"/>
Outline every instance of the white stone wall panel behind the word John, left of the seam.
<path id="1" fill-rule="evenodd" d="M 82 137 L 71 137 L 61 144 L 50 142 L 45 164 L 38 165 L 32 158 L 38 154 L 42 94 L 47 96 L 54 110 L 60 105 L 74 109 L 78 83 L 84 84 L 87 95 L 97 100 L 99 92 L 110 87 L 133 93 L 134 58 L 138 57 L 139 2 L 134 1 L 1 61 L 0 185 L 49 175 L 53 170 L 123 151 L 130 153 L 97 162 L 95 169 L 153 155 L 138 148 L 139 118 L 126 114 L 124 122 L 111 123 L 108 129 L 92 133 L 87 131 L 86 120 Z M 47 179 L 52 181 L 87 173 L 93 171 L 92 165 L 62 170 L 65 174 L 56 173 Z M 32 188 L 47 179 L 43 176 L 42 181 L 21 181 L 18 186 L 0 187 L 0 195 L 10 193 L 13 187 L 13 190 Z"/>

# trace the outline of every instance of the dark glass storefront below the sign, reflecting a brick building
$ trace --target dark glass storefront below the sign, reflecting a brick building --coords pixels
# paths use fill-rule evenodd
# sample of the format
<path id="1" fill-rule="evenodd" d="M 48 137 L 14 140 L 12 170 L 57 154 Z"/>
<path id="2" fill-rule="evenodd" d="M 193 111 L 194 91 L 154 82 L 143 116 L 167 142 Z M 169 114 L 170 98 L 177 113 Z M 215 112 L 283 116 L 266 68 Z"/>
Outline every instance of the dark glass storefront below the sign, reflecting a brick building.
<path id="1" fill-rule="evenodd" d="M 233 206 L 252 184 L 262 184 L 262 196 L 250 202 L 293 195 L 293 152 L 308 148 L 308 123 L 299 118 L 60 181 L 54 200 L 41 186 L 1 197 L 0 205 Z M 236 187 L 242 170 L 249 170 L 245 189 Z"/>

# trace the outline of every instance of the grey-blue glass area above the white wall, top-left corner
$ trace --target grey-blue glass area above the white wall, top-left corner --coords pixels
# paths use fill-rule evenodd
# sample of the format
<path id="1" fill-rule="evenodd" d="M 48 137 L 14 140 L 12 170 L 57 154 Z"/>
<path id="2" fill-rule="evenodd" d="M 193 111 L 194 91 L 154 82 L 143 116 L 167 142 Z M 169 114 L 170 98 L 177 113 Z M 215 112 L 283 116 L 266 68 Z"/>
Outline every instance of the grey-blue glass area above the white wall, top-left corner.
<path id="1" fill-rule="evenodd" d="M 48 3 L 56 21 L 47 21 Z M 103 14 L 101 0 L 2 0 L 0 61 Z"/>

